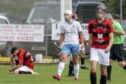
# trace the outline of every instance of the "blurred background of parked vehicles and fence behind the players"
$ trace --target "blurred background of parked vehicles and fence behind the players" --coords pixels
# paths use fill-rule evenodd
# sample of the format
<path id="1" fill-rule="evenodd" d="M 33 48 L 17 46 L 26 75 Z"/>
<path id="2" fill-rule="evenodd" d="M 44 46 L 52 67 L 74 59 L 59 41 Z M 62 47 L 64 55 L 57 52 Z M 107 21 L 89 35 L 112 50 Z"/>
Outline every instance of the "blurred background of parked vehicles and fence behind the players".
<path id="1" fill-rule="evenodd" d="M 73 10 L 86 32 L 88 22 L 95 18 L 97 5 L 103 3 L 107 12 L 111 13 L 126 31 L 126 0 L 0 0 L 0 24 L 44 25 L 45 28 L 44 42 L 0 42 L 0 55 L 9 56 L 10 48 L 17 46 L 30 51 L 34 57 L 58 58 L 54 42 L 59 39 L 59 26 L 60 22 L 64 21 L 64 11 Z M 85 33 L 85 38 L 88 42 L 88 33 Z M 88 46 L 86 53 L 89 54 Z"/>

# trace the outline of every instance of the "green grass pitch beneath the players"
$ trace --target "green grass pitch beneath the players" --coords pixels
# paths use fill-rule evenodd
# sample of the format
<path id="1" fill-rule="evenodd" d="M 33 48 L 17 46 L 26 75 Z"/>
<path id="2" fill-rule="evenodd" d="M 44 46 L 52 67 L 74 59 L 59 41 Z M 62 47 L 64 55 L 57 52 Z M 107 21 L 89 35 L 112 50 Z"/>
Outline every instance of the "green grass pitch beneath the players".
<path id="1" fill-rule="evenodd" d="M 89 67 L 89 62 L 86 62 L 86 64 Z M 89 70 L 81 70 L 80 79 L 75 81 L 72 77 L 67 77 L 68 66 L 63 72 L 61 81 L 52 79 L 52 75 L 57 71 L 57 65 L 36 65 L 35 71 L 39 73 L 39 76 L 14 75 L 9 73 L 8 69 L 8 65 L 0 65 L 0 84 L 90 84 Z M 97 71 L 99 84 L 99 67 Z M 107 84 L 126 84 L 126 71 L 115 62 L 113 62 L 112 81 Z"/>

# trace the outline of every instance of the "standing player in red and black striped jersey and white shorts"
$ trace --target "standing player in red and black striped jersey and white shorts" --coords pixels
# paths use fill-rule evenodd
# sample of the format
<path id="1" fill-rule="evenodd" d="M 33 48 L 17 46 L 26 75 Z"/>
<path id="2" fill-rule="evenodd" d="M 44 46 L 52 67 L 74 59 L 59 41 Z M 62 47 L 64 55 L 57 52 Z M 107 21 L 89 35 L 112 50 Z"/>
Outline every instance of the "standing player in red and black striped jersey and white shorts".
<path id="1" fill-rule="evenodd" d="M 109 65 L 110 49 L 113 44 L 112 23 L 104 19 L 106 12 L 104 9 L 97 9 L 96 19 L 89 22 L 89 42 L 90 50 L 90 82 L 97 84 L 97 62 L 101 65 L 100 84 L 106 84 L 107 66 Z"/>

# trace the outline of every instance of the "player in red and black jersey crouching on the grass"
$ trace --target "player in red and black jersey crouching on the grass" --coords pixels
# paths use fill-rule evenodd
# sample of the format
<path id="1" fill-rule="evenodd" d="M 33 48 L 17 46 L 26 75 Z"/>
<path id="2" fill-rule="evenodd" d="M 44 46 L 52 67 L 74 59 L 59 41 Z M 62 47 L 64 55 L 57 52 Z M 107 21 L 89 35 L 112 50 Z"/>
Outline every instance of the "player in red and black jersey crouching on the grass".
<path id="1" fill-rule="evenodd" d="M 10 63 L 11 63 L 11 69 L 9 70 L 10 72 L 14 72 L 15 74 L 38 75 L 37 72 L 33 71 L 34 64 L 31 54 L 24 49 L 12 47 Z"/>

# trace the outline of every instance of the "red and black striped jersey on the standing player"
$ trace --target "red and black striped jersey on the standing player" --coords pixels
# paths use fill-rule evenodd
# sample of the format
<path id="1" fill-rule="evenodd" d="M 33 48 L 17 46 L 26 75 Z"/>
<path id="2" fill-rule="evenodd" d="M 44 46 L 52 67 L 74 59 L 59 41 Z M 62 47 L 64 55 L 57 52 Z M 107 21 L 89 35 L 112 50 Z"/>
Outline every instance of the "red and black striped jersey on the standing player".
<path id="1" fill-rule="evenodd" d="M 102 23 L 99 23 L 97 19 L 94 19 L 89 22 L 88 32 L 92 34 L 92 47 L 104 49 L 109 44 L 109 34 L 114 32 L 112 23 L 103 20 Z"/>

